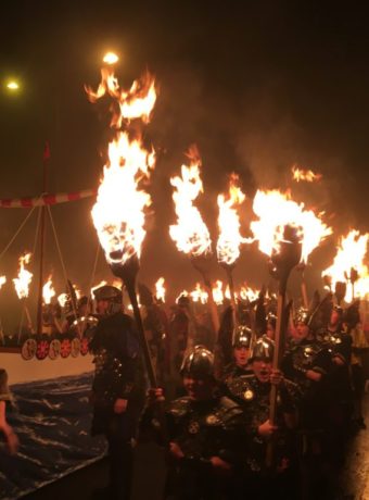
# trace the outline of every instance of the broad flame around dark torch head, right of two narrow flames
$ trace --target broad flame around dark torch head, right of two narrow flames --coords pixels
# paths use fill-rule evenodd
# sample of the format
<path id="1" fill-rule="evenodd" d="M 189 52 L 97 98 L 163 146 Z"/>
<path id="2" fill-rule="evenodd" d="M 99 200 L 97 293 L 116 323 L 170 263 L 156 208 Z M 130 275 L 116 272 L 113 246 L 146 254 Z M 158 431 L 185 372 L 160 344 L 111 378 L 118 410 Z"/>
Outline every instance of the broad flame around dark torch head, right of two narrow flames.
<path id="1" fill-rule="evenodd" d="M 285 225 L 297 227 L 302 240 L 302 262 L 305 263 L 313 250 L 332 234 L 332 229 L 320 218 L 322 213 L 317 216 L 311 210 L 305 210 L 304 203 L 291 200 L 290 193 L 258 190 L 253 210 L 259 220 L 253 221 L 250 227 L 254 239 L 258 240 L 259 250 L 267 255 L 278 251 Z"/>

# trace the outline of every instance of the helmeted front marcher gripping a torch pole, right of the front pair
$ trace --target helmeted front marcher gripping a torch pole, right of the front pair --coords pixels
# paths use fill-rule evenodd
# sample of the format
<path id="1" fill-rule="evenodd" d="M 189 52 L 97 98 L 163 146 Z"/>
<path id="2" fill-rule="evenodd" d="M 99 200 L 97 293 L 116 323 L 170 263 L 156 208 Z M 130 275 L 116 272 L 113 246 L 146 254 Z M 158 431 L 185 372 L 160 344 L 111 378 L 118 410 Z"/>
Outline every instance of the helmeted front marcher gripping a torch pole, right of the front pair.
<path id="1" fill-rule="evenodd" d="M 264 500 L 298 498 L 294 429 L 297 425 L 298 387 L 272 370 L 273 341 L 263 336 L 251 350 L 251 375 L 228 382 L 228 390 L 244 410 L 247 448 L 241 482 L 241 498 Z M 277 425 L 269 421 L 271 385 L 278 388 Z M 267 464 L 272 446 L 272 464 Z"/>

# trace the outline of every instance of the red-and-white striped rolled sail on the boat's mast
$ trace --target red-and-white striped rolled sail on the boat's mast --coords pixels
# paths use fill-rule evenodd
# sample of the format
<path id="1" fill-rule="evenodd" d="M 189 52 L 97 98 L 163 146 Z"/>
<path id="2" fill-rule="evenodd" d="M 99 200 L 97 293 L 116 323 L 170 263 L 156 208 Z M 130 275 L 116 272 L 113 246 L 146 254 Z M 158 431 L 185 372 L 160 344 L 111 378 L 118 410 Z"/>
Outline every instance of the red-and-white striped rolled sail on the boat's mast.
<path id="1" fill-rule="evenodd" d="M 97 189 L 85 189 L 75 192 L 60 192 L 58 195 L 42 195 L 37 198 L 13 198 L 0 200 L 0 209 L 29 209 L 33 207 L 42 207 L 47 204 L 66 203 L 77 201 L 82 198 L 97 196 Z"/>

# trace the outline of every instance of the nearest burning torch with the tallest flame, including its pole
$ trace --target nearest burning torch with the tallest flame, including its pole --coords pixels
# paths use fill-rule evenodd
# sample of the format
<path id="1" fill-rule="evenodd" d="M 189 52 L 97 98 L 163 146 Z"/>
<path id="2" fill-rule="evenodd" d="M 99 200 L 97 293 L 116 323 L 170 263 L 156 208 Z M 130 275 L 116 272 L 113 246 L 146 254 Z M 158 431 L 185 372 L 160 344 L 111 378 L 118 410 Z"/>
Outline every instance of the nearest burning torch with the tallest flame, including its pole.
<path id="1" fill-rule="evenodd" d="M 91 101 L 105 92 L 116 100 L 118 111 L 111 123 L 115 128 L 120 127 L 123 120 L 126 124 L 133 118 L 148 122 L 156 100 L 154 80 L 149 74 L 140 82 L 135 82 L 130 90 L 125 91 L 119 87 L 110 67 L 103 68 L 98 91 L 93 92 L 87 88 L 87 92 Z M 104 166 L 97 202 L 91 211 L 106 261 L 128 292 L 152 387 L 156 387 L 156 376 L 138 305 L 136 282 L 145 237 L 144 210 L 151 204 L 149 193 L 140 188 L 140 184 L 149 178 L 154 163 L 154 152 L 143 147 L 140 136 L 136 135 L 132 139 L 128 133 L 118 130 L 115 139 L 109 145 L 109 163 Z"/>

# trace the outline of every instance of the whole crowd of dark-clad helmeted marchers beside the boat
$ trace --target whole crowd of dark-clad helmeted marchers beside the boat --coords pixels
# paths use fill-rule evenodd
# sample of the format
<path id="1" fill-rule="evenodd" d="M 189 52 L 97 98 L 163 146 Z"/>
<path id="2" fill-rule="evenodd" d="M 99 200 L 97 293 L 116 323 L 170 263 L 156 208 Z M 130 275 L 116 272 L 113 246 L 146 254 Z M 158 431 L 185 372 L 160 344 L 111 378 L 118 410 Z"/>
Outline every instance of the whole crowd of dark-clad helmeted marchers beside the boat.
<path id="1" fill-rule="evenodd" d="M 98 321 L 85 322 L 96 366 L 91 433 L 109 443 L 110 485 L 101 498 L 130 498 L 133 449 L 147 440 L 166 450 L 167 500 L 342 498 L 347 443 L 366 428 L 369 341 L 360 302 L 342 308 L 327 293 L 309 309 L 290 303 L 276 365 L 277 303 L 266 293 L 226 307 L 218 332 L 188 297 L 169 311 L 150 293 L 142 298 L 156 387 L 118 288 L 94 290 Z M 16 452 L 0 376 L 0 430 Z"/>

